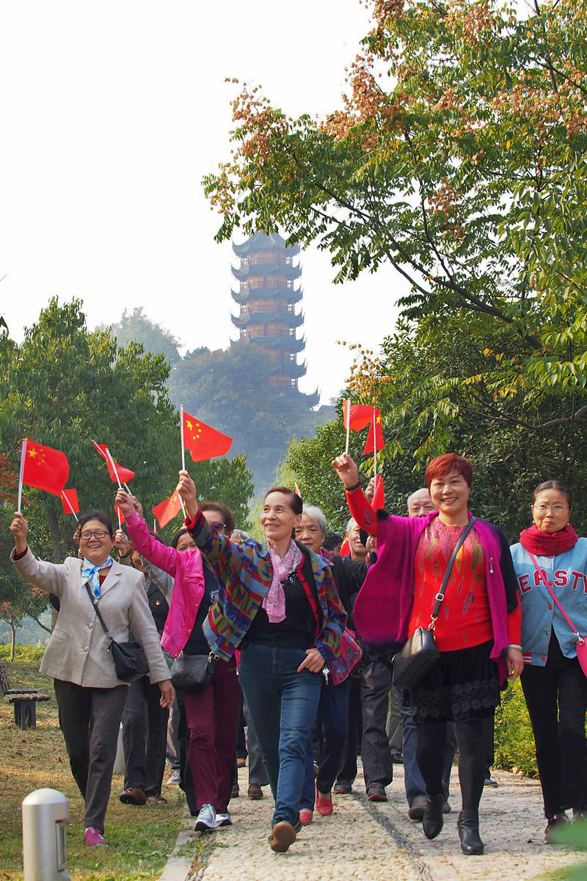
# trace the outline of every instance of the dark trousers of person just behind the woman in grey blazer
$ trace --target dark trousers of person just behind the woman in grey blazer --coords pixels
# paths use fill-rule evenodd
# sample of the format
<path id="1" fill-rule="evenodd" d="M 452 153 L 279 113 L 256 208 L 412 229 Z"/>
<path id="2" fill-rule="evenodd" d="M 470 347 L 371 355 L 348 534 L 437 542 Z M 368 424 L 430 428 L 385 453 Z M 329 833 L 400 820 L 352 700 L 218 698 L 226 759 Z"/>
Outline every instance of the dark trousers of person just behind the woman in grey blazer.
<path id="1" fill-rule="evenodd" d="M 169 710 L 160 705 L 160 687 L 148 676 L 130 683 L 123 710 L 124 788 L 139 786 L 160 796 L 167 753 Z"/>

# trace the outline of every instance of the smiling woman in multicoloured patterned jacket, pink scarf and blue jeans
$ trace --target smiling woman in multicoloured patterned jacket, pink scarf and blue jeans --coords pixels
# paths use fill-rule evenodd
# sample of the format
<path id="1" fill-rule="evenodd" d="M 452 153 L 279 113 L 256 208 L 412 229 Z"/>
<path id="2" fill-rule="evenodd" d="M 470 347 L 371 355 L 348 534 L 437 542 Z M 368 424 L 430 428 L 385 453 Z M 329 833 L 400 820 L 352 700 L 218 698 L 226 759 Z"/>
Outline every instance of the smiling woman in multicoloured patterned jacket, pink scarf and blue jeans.
<path id="1" fill-rule="evenodd" d="M 285 486 L 272 487 L 261 512 L 266 541 L 234 544 L 206 522 L 187 471 L 180 471 L 177 488 L 189 533 L 223 585 L 204 633 L 220 657 L 241 651 L 242 692 L 275 798 L 270 846 L 283 853 L 301 828 L 306 744 L 323 669 L 327 665 L 335 681 L 342 681 L 360 649 L 343 638 L 346 612 L 328 564 L 293 539 L 299 496 Z"/>

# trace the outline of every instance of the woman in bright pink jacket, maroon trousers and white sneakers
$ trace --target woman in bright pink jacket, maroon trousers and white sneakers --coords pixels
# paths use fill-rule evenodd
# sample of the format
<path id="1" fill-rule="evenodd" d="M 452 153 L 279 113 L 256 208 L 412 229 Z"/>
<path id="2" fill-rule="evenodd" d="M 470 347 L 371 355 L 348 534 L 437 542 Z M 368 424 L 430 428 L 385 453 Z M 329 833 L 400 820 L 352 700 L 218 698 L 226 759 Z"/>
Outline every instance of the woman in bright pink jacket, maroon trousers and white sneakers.
<path id="1" fill-rule="evenodd" d="M 149 533 L 145 521 L 137 515 L 131 496 L 119 490 L 116 504 L 123 511 L 136 550 L 154 566 L 174 577 L 161 646 L 174 657 L 182 652 L 209 655 L 210 647 L 202 632 L 202 624 L 218 596 L 216 575 L 204 563 L 191 537 L 191 546 L 183 552 L 167 547 Z M 227 516 L 220 516 L 219 512 L 224 507 L 204 511 L 208 522 L 223 534 L 227 529 Z M 232 529 L 228 534 L 230 531 Z M 234 658 L 231 661 L 219 659 L 212 683 L 202 692 L 184 692 L 184 700 L 189 728 L 189 767 L 199 808 L 196 830 L 208 832 L 231 823 L 228 802 L 236 726 L 241 712 L 241 686 Z"/>

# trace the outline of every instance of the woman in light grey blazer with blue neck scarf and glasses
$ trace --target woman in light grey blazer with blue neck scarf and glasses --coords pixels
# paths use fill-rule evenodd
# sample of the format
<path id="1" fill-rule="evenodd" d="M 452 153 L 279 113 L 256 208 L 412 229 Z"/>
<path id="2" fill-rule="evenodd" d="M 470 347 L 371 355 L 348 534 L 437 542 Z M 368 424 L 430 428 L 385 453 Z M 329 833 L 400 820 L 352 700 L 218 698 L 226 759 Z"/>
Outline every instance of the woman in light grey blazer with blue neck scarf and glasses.
<path id="1" fill-rule="evenodd" d="M 124 702 L 129 683 L 116 677 L 109 642 L 85 584 L 111 636 L 128 642 L 134 633 L 145 651 L 152 683 L 158 683 L 161 706 L 174 702 L 167 662 L 147 602 L 144 577 L 110 557 L 112 522 L 105 511 L 79 518 L 80 557 L 63 563 L 36 559 L 26 543 L 27 523 L 16 513 L 11 522 L 15 549 L 11 559 L 25 581 L 56 594 L 61 608 L 41 662 L 41 673 L 55 679 L 59 725 L 71 773 L 85 799 L 84 841 L 106 844 L 104 817 Z"/>

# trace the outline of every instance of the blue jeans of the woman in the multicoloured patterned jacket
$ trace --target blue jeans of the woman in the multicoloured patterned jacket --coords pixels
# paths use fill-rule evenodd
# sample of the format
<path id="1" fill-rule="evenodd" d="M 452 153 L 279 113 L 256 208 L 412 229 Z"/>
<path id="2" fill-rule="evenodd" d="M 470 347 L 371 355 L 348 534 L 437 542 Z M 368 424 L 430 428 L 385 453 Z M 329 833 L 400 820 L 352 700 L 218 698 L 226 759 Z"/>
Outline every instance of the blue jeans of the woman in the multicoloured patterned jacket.
<path id="1" fill-rule="evenodd" d="M 300 814 L 306 745 L 323 679 L 309 670 L 298 673 L 305 657 L 301 648 L 255 642 L 241 650 L 241 688 L 275 799 L 271 825 L 280 820 L 295 825 Z"/>

